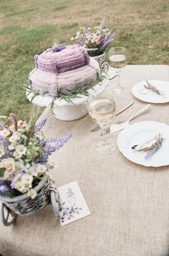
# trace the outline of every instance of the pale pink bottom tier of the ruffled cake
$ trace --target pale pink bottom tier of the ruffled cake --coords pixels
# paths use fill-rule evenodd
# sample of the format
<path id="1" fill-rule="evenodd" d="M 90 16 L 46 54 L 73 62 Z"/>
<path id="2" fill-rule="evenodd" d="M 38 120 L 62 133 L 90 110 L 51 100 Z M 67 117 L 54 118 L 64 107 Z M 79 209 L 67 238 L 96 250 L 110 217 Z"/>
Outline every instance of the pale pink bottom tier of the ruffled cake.
<path id="1" fill-rule="evenodd" d="M 95 83 L 99 66 L 95 59 L 89 57 L 89 63 L 82 67 L 54 74 L 35 68 L 29 75 L 31 86 L 40 94 L 57 96 L 58 91 L 66 94 L 68 90 Z"/>

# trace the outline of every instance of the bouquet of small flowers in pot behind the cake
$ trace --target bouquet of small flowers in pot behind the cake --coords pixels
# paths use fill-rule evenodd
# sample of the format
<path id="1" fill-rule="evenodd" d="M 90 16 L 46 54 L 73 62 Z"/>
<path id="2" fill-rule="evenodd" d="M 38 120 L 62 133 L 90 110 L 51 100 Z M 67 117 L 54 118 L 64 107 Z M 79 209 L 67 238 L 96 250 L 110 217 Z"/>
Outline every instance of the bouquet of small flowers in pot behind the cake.
<path id="1" fill-rule="evenodd" d="M 105 50 L 113 40 L 114 32 L 112 29 L 107 29 L 104 22 L 95 27 L 93 31 L 90 27 L 82 27 L 76 32 L 75 37 L 71 37 L 71 41 L 87 48 L 88 54 L 96 60 L 102 58 L 102 62 L 104 61 Z"/>

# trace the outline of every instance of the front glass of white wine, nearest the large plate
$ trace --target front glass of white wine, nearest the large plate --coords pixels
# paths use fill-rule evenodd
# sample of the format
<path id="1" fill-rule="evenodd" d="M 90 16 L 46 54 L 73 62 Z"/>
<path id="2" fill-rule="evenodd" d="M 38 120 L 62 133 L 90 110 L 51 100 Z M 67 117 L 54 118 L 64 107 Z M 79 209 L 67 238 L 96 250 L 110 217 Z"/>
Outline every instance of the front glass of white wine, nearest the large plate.
<path id="1" fill-rule="evenodd" d="M 102 129 L 103 139 L 98 143 L 96 151 L 98 154 L 112 154 L 115 150 L 109 137 L 106 138 L 106 129 L 109 127 L 116 113 L 116 101 L 112 91 L 103 91 L 98 95 L 90 95 L 89 114 L 96 124 Z"/>

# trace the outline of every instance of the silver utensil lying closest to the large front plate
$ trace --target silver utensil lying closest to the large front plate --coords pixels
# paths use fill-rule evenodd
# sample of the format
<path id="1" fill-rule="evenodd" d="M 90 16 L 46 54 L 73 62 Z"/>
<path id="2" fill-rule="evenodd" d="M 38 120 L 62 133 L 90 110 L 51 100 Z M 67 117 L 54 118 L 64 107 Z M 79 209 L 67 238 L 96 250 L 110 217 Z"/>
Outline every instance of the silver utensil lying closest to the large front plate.
<path id="1" fill-rule="evenodd" d="M 122 129 L 125 129 L 125 127 L 127 127 L 129 125 L 129 122 L 131 120 L 133 120 L 134 118 L 136 118 L 137 116 L 140 116 L 142 113 L 146 112 L 146 110 L 148 108 L 150 108 L 150 104 L 145 105 L 143 108 L 141 108 L 141 110 L 139 110 L 138 112 L 136 112 L 133 116 L 131 116 L 127 121 L 122 122 L 121 124 L 113 124 L 111 125 L 111 127 L 109 127 L 108 129 L 106 129 L 106 135 L 110 134 L 112 132 L 118 132 Z M 102 135 L 102 134 L 101 134 Z"/>

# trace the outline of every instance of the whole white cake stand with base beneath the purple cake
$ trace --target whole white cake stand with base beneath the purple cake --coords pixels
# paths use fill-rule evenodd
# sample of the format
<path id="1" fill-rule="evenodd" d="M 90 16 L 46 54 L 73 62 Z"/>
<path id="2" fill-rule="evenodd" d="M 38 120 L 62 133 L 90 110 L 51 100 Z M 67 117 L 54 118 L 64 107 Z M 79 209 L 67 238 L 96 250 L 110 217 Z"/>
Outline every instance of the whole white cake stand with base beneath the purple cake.
<path id="1" fill-rule="evenodd" d="M 93 95 L 99 94 L 101 93 L 101 91 L 105 89 L 108 83 L 109 79 L 104 78 L 104 80 L 101 83 L 98 83 L 95 86 L 93 86 L 93 89 L 89 89 L 88 92 Z M 72 121 L 87 115 L 88 97 L 82 94 L 78 94 L 77 96 L 80 98 L 71 99 L 72 102 L 66 102 L 66 100 L 64 99 L 55 99 L 55 105 L 52 109 L 54 116 L 63 121 Z M 40 107 L 47 107 L 52 102 L 52 97 L 50 96 L 38 95 L 34 97 L 34 93 L 29 93 L 28 91 L 26 91 L 26 97 L 30 102 Z M 32 98 L 34 99 L 31 101 Z"/>

